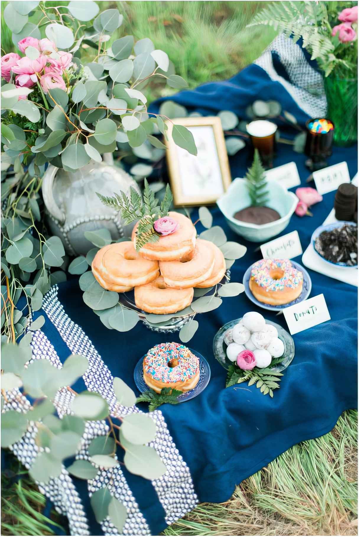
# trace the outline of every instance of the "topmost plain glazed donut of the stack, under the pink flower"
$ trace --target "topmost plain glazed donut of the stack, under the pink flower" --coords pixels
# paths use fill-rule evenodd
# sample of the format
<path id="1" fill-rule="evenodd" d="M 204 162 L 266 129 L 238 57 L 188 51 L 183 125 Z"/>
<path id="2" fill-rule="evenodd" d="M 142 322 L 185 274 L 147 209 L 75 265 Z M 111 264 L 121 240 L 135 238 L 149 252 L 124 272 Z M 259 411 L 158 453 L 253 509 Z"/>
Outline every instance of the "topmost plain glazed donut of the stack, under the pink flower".
<path id="1" fill-rule="evenodd" d="M 196 228 L 190 219 L 181 213 L 170 212 L 169 216 L 176 220 L 178 229 L 170 235 L 163 235 L 157 242 L 148 242 L 140 249 L 145 259 L 157 261 L 189 260 L 192 258 L 196 245 Z M 132 231 L 132 240 L 136 242 L 138 223 Z"/>

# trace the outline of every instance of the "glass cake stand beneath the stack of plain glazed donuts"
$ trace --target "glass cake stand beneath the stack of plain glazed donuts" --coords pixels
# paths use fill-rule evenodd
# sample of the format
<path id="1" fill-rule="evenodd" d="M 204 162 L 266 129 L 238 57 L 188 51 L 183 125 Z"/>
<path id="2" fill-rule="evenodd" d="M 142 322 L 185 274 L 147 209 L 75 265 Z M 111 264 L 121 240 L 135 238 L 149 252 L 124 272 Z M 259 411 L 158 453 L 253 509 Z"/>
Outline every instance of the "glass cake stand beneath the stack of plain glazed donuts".
<path id="1" fill-rule="evenodd" d="M 220 284 L 227 284 L 230 279 L 231 279 L 231 271 L 227 270 L 224 277 L 221 279 Z M 207 291 L 206 293 L 200 296 L 207 296 L 207 295 L 210 295 L 211 293 L 213 293 L 213 288 L 209 288 L 209 291 Z M 217 291 L 216 291 L 215 296 L 219 296 Z M 199 298 L 199 296 L 193 297 L 193 300 L 196 300 L 197 298 Z M 154 323 L 154 322 L 149 322 L 146 318 L 150 314 L 146 313 L 145 311 L 142 311 L 136 306 L 135 301 L 134 301 L 133 291 L 130 291 L 128 293 L 119 293 L 119 302 L 126 308 L 137 311 L 142 323 L 145 326 L 147 326 L 147 328 L 149 328 L 150 330 L 153 330 L 154 332 L 162 332 L 162 333 L 177 332 L 181 330 L 184 324 L 188 323 L 196 315 L 196 311 L 193 311 L 191 307 L 188 306 L 182 309 L 181 311 L 177 311 L 176 313 L 163 315 L 163 321 L 160 320 L 160 315 L 157 315 L 156 317 L 159 318 L 159 322 Z"/>

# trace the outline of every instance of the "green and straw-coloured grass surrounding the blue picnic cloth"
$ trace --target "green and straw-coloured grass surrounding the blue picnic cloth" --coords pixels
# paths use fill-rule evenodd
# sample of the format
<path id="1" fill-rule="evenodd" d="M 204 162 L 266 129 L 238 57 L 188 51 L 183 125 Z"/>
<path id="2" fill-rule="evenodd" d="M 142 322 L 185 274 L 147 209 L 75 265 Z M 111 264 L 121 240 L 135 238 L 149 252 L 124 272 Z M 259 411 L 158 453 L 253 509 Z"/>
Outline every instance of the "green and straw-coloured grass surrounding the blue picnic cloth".
<path id="1" fill-rule="evenodd" d="M 67 5 L 68 2 L 61 2 Z M 46 5 L 57 6 L 58 2 Z M 246 28 L 264 2 L 98 2 L 118 7 L 126 34 L 149 37 L 165 50 L 190 88 L 233 76 L 275 37 L 266 27 Z M 6 2 L 1 3 L 2 13 Z M 1 20 L 2 54 L 11 33 Z M 89 57 L 90 61 L 90 57 Z M 152 84 L 149 101 L 176 90 Z M 236 487 L 224 504 L 201 504 L 164 535 L 356 535 L 357 412 L 347 411 L 333 431 L 302 442 Z M 66 521 L 42 514 L 46 499 L 10 456 L 2 474 L 2 535 L 53 535 Z"/>

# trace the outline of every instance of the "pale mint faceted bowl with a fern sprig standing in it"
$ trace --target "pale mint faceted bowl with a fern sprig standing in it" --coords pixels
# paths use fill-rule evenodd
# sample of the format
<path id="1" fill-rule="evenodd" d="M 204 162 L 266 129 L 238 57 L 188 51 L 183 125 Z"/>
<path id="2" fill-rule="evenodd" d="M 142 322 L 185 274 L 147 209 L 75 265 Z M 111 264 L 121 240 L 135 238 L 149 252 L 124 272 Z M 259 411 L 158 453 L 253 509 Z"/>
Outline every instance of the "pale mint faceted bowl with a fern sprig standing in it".
<path id="1" fill-rule="evenodd" d="M 250 205 L 250 198 L 245 179 L 234 179 L 228 190 L 218 200 L 217 205 L 224 215 L 228 226 L 234 233 L 241 235 L 250 242 L 265 242 L 275 237 L 285 229 L 298 204 L 298 198 L 293 192 L 285 190 L 275 181 L 267 184 L 268 203 L 267 207 L 275 209 L 281 216 L 279 220 L 269 224 L 250 224 L 234 218 L 234 214 Z"/>

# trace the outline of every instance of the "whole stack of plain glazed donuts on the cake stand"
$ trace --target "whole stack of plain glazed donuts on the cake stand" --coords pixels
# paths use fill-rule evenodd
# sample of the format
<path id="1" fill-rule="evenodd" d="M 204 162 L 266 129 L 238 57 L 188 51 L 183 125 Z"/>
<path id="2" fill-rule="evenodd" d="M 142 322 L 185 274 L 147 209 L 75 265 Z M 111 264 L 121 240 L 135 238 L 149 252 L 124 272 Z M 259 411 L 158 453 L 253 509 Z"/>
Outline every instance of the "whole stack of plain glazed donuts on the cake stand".
<path id="1" fill-rule="evenodd" d="M 170 212 L 178 224 L 176 231 L 135 250 L 138 224 L 132 241 L 101 248 L 92 262 L 92 273 L 104 289 L 125 293 L 134 288 L 136 306 L 154 314 L 176 313 L 189 306 L 194 287 L 212 287 L 226 272 L 218 246 L 196 240 L 191 220 Z"/>

